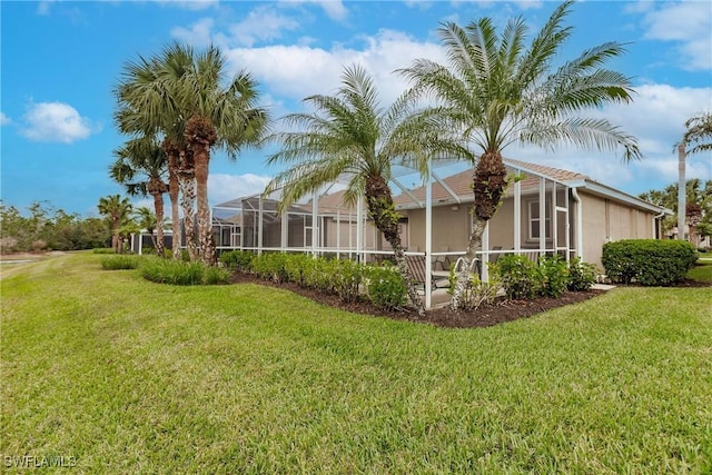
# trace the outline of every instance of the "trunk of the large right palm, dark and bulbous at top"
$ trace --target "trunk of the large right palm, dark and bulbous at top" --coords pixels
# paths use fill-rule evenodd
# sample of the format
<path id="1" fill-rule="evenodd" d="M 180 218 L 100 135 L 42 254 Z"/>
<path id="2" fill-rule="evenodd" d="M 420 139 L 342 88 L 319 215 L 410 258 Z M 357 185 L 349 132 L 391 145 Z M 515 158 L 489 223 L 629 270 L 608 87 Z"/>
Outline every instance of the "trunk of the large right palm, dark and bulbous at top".
<path id="1" fill-rule="evenodd" d="M 498 150 L 488 150 L 479 157 L 473 174 L 473 191 L 475 194 L 474 224 L 467 241 L 467 253 L 459 273 L 449 307 L 458 311 L 463 306 L 465 287 L 469 283 L 469 267 L 476 258 L 477 249 L 482 248 L 482 235 L 487 221 L 497 212 L 500 200 L 507 188 L 507 169 L 502 162 Z"/>

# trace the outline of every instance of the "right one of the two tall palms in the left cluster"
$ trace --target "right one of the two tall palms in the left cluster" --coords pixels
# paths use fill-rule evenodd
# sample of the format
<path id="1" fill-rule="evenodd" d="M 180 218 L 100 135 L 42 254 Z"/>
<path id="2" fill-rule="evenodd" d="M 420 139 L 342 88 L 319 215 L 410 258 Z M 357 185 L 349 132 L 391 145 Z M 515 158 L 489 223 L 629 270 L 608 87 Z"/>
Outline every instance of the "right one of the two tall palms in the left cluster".
<path id="1" fill-rule="evenodd" d="M 190 116 L 184 138 L 195 160 L 198 239 L 206 264 L 215 264 L 208 206 L 210 149 L 218 147 L 236 159 L 243 147 L 258 144 L 267 127 L 267 112 L 256 105 L 257 83 L 251 76 L 239 72 L 225 87 L 225 75 L 226 58 L 210 46 L 195 57 L 192 69 L 178 86 L 181 108 Z"/>

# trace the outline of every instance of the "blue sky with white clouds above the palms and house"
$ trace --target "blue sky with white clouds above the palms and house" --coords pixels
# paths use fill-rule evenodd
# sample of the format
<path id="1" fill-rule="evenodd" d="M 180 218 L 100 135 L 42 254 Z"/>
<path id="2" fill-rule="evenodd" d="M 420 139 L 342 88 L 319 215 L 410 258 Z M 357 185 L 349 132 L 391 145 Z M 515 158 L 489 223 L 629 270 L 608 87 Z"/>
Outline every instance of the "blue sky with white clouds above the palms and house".
<path id="1" fill-rule="evenodd" d="M 274 118 L 300 100 L 332 93 L 343 67 L 358 62 L 384 103 L 406 83 L 392 72 L 416 58 L 445 62 L 434 30 L 483 16 L 500 26 L 522 16 L 532 34 L 550 1 L 2 1 L 0 196 L 21 209 L 32 201 L 96 216 L 100 197 L 122 192 L 108 178 L 112 150 L 126 137 L 112 122 L 112 88 L 126 61 L 179 40 L 219 46 L 234 71 L 259 82 Z M 604 41 L 629 43 L 611 66 L 633 78 L 632 105 L 595 111 L 637 137 L 645 158 L 623 164 L 610 152 L 511 146 L 505 156 L 589 175 L 637 195 L 676 181 L 673 145 L 684 121 L 712 110 L 712 4 L 708 1 L 585 1 L 562 60 Z M 269 150 L 210 165 L 211 205 L 263 189 L 276 171 Z M 712 156 L 691 156 L 688 177 L 712 179 Z M 135 200 L 136 204 L 148 201 Z"/>

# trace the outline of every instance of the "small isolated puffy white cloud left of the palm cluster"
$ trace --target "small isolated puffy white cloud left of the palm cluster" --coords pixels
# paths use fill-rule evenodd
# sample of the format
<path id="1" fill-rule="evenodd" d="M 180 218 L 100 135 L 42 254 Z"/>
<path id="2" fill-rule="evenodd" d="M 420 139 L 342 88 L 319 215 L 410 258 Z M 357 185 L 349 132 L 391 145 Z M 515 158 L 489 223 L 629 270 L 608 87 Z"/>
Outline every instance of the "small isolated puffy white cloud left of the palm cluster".
<path id="1" fill-rule="evenodd" d="M 91 133 L 91 123 L 73 107 L 62 102 L 31 105 L 21 133 L 30 140 L 71 144 Z"/>

